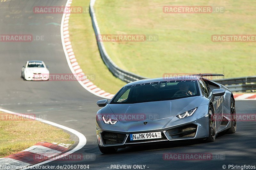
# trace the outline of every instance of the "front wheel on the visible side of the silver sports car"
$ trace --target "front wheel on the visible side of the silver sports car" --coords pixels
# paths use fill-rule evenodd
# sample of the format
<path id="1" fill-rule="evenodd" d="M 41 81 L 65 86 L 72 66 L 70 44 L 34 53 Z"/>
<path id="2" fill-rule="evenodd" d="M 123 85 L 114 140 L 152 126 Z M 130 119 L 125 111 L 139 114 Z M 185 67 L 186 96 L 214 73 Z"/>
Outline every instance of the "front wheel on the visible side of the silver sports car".
<path id="1" fill-rule="evenodd" d="M 209 137 L 206 138 L 206 142 L 213 142 L 216 138 L 216 120 L 214 109 L 212 105 L 209 105 L 208 109 L 208 118 L 209 118 Z"/>

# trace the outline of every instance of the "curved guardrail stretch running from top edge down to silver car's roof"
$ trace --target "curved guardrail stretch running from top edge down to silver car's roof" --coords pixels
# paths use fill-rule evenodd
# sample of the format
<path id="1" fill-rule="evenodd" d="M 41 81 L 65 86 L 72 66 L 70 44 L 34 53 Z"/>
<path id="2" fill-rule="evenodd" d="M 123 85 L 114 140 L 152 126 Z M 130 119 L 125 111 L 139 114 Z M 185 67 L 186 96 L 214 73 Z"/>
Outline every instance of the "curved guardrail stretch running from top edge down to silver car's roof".
<path id="1" fill-rule="evenodd" d="M 92 26 L 93 26 L 93 29 L 94 29 L 94 32 L 95 32 L 95 35 L 96 35 L 96 39 L 97 39 L 98 35 L 100 35 L 100 28 L 99 28 L 99 25 L 98 25 L 98 22 L 97 22 L 97 19 L 96 19 L 96 15 L 95 15 L 95 11 L 94 11 L 94 8 L 93 8 L 93 6 L 95 4 L 95 1 L 96 0 L 91 0 L 91 2 L 90 2 L 90 15 L 91 15 L 91 18 L 92 18 Z M 107 51 L 104 47 L 103 42 L 98 41 L 98 39 L 97 39 L 97 44 L 98 44 L 98 48 L 99 48 L 99 51 L 100 51 L 100 56 L 101 56 L 103 62 L 106 64 L 106 66 L 108 67 L 108 70 L 114 76 L 123 80 L 126 83 L 130 83 L 130 82 L 133 82 L 133 81 L 136 81 L 136 80 L 141 80 L 141 79 L 147 79 L 145 77 L 141 77 L 139 75 L 136 75 L 134 73 L 131 73 L 129 71 L 125 71 L 125 70 L 119 68 L 109 57 L 109 55 L 108 55 L 108 53 L 107 53 Z"/>

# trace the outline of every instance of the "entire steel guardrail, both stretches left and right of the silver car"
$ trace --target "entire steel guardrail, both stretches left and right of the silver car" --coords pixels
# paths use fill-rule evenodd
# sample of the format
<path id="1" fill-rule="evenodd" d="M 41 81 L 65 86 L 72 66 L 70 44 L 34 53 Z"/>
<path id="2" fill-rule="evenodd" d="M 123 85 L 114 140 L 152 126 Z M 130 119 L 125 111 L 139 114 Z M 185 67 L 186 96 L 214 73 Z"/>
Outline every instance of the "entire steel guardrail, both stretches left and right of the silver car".
<path id="1" fill-rule="evenodd" d="M 90 15 L 92 18 L 92 26 L 95 32 L 96 39 L 98 35 L 100 35 L 100 28 L 96 19 L 95 11 L 94 11 L 94 4 L 96 0 L 91 0 L 90 2 Z M 97 39 L 98 48 L 100 51 L 100 56 L 103 60 L 103 62 L 108 67 L 108 70 L 117 78 L 123 80 L 126 83 L 130 83 L 136 80 L 141 79 L 147 79 L 145 77 L 141 77 L 139 75 L 136 75 L 134 73 L 125 71 L 121 68 L 119 68 L 109 57 L 103 42 L 98 41 Z M 241 78 L 228 78 L 228 79 L 218 79 L 213 80 L 216 81 L 222 85 L 225 85 L 227 88 L 229 88 L 233 92 L 246 92 L 246 91 L 253 91 L 256 90 L 256 76 L 254 77 L 241 77 Z"/>

